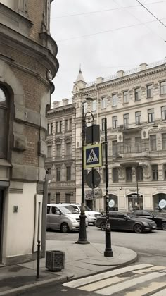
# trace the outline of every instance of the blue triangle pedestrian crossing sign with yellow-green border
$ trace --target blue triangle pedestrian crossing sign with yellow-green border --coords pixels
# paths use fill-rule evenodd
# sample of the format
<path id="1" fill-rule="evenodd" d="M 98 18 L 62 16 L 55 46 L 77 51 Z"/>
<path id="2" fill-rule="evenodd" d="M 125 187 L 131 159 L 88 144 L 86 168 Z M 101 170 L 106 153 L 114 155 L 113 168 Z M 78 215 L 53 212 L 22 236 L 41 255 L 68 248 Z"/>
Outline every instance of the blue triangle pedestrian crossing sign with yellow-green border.
<path id="1" fill-rule="evenodd" d="M 101 163 L 101 144 L 84 147 L 84 168 L 95 168 Z"/>

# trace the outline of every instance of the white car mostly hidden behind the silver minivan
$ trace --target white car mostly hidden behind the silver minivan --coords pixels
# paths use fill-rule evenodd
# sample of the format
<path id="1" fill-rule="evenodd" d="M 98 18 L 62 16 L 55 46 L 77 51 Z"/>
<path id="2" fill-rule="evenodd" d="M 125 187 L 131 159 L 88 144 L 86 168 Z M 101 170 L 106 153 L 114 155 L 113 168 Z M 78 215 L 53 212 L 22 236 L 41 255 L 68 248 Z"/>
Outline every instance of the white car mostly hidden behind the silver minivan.
<path id="1" fill-rule="evenodd" d="M 79 214 L 81 213 L 81 204 L 70 204 Z M 87 217 L 88 224 L 94 224 L 96 222 L 96 217 L 101 216 L 101 213 L 99 211 L 91 211 L 91 209 L 88 206 L 84 206 L 84 214 Z"/>

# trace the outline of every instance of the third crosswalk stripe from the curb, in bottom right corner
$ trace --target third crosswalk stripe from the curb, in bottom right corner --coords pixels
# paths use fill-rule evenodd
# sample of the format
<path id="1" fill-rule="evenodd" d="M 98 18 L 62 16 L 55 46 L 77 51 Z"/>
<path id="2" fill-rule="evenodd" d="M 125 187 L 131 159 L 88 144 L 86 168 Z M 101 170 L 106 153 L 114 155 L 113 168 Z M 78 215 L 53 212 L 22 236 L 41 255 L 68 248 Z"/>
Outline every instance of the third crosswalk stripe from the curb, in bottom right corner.
<path id="1" fill-rule="evenodd" d="M 165 282 L 163 282 L 163 283 L 158 283 L 158 282 L 150 283 L 150 285 L 148 285 L 148 287 L 137 288 L 138 290 L 134 291 L 134 296 L 143 296 L 143 295 L 146 295 L 147 293 L 153 292 L 154 290 L 157 290 L 159 288 L 165 287 L 165 285 L 166 285 Z M 153 294 L 153 295 L 155 295 L 155 294 Z M 160 296 L 165 296 L 166 293 L 165 294 L 159 294 L 159 295 Z M 132 292 L 127 292 L 125 294 L 125 296 L 133 296 L 133 291 Z"/>

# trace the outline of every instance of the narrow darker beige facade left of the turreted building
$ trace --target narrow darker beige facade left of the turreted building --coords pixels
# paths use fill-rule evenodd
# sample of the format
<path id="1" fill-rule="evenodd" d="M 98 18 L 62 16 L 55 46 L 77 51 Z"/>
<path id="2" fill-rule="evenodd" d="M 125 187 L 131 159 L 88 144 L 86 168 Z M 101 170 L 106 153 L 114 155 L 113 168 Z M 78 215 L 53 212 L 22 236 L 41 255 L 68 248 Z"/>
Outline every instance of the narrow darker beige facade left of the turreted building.
<path id="1" fill-rule="evenodd" d="M 52 175 L 48 202 L 75 202 L 75 103 L 54 101 L 47 119 L 46 170 Z"/>

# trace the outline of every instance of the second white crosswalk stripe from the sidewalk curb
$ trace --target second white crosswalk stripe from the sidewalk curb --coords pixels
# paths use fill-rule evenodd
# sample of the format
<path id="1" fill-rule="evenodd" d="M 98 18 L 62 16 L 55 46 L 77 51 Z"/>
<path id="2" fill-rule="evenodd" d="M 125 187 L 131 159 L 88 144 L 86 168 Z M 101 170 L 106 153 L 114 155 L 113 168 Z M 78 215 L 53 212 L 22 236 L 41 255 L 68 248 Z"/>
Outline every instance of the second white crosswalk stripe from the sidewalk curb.
<path id="1" fill-rule="evenodd" d="M 95 293 L 110 296 L 110 295 L 113 295 L 114 293 L 120 292 L 127 288 L 131 288 L 134 285 L 138 285 L 138 284 L 140 285 L 141 283 L 145 283 L 148 280 L 153 280 L 155 278 L 160 278 L 162 276 L 163 276 L 163 273 L 159 273 L 159 272 L 149 273 L 149 274 L 146 274 L 145 276 L 139 276 L 138 278 L 133 278 L 132 280 L 127 280 L 117 285 L 112 285 L 111 287 L 107 287 L 107 288 L 95 291 Z"/>

